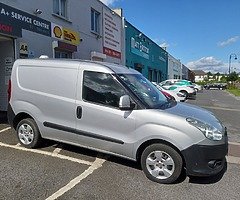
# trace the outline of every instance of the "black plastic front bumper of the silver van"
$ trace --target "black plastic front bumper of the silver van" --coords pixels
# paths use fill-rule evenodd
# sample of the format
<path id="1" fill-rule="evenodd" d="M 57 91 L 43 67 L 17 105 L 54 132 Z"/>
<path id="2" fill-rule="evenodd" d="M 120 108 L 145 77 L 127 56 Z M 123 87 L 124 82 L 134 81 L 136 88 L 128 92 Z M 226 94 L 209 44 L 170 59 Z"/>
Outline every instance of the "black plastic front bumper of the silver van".
<path id="1" fill-rule="evenodd" d="M 228 139 L 218 145 L 195 144 L 182 151 L 187 175 L 211 176 L 221 172 L 228 153 Z"/>

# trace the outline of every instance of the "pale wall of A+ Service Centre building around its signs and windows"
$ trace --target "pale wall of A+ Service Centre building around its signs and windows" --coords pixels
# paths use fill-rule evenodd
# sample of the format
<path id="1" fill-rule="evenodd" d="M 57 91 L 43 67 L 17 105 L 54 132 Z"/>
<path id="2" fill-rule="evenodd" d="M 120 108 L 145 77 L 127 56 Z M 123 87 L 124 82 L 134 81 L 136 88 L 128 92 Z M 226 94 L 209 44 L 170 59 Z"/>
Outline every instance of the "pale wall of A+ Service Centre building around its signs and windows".
<path id="1" fill-rule="evenodd" d="M 37 15 L 38 17 L 79 32 L 82 42 L 78 45 L 78 51 L 73 54 L 73 58 L 90 60 L 92 51 L 103 53 L 103 8 L 108 10 L 110 10 L 110 8 L 99 0 L 68 0 L 67 20 L 53 15 L 52 0 L 34 0 L 34 3 L 29 3 L 29 1 L 25 0 L 1 0 L 1 3 L 32 15 L 34 15 L 33 13 L 36 9 L 40 9 L 42 14 Z M 91 32 L 91 8 L 100 13 L 100 37 L 97 37 L 96 34 Z M 115 14 L 114 17 L 121 19 L 117 14 Z M 120 41 L 124 42 L 124 33 L 122 30 L 121 37 L 122 39 Z M 53 38 L 48 38 L 37 33 L 23 31 L 23 37 L 19 39 L 18 43 L 20 43 L 20 41 L 27 41 L 31 47 L 34 47 L 34 49 L 31 49 L 35 50 L 36 55 L 41 54 L 42 49 L 38 49 L 42 46 L 44 51 L 47 51 L 47 54 L 52 57 L 52 44 L 50 43 L 54 40 Z M 122 54 L 124 54 L 124 45 L 121 45 L 121 47 Z M 122 64 L 124 63 L 124 56 L 122 56 L 122 59 L 107 56 L 104 61 Z"/>

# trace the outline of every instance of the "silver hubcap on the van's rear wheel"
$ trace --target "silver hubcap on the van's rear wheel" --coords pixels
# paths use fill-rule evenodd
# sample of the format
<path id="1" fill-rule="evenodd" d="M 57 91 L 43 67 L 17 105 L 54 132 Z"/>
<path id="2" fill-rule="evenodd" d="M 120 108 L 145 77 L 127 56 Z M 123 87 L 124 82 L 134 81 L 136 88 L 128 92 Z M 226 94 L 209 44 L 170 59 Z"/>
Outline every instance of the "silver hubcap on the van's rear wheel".
<path id="1" fill-rule="evenodd" d="M 22 124 L 18 129 L 18 137 L 23 144 L 30 144 L 34 137 L 32 127 L 29 124 Z"/>

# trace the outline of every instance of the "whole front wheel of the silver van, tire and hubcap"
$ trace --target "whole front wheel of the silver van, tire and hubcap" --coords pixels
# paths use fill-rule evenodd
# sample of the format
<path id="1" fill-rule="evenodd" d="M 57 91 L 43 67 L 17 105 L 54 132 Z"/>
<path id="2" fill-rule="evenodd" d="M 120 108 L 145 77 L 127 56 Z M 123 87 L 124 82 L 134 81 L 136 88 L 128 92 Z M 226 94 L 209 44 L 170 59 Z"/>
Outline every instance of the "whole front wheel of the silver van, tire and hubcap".
<path id="1" fill-rule="evenodd" d="M 160 155 L 159 152 L 162 153 L 161 160 L 163 160 L 163 162 L 158 161 Z M 147 164 L 147 160 L 150 164 Z M 176 150 L 168 145 L 159 143 L 152 144 L 144 149 L 141 156 L 141 166 L 143 172 L 150 180 L 158 183 L 169 184 L 174 183 L 180 177 L 183 161 L 182 157 Z M 171 173 L 169 173 L 169 171 Z M 152 173 L 155 172 L 157 174 L 152 175 Z M 167 177 L 165 177 L 165 174 L 167 174 Z"/>

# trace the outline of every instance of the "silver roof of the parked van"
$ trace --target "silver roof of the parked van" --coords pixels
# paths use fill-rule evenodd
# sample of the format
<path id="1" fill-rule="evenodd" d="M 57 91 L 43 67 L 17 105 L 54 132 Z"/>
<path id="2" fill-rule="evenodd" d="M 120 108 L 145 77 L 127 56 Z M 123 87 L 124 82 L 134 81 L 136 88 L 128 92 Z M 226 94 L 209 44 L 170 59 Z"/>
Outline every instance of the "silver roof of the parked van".
<path id="1" fill-rule="evenodd" d="M 15 61 L 18 65 L 36 65 L 42 63 L 42 66 L 48 64 L 57 64 L 56 67 L 77 67 L 79 64 L 89 64 L 95 65 L 95 67 L 102 67 L 108 68 L 111 71 L 121 74 L 121 73 L 128 73 L 128 74 L 138 74 L 136 70 L 132 68 L 127 68 L 124 65 L 119 65 L 115 63 L 108 63 L 108 62 L 100 62 L 100 61 L 91 61 L 91 60 L 81 60 L 81 59 L 53 59 L 53 58 L 36 58 L 36 59 L 18 59 Z"/>

